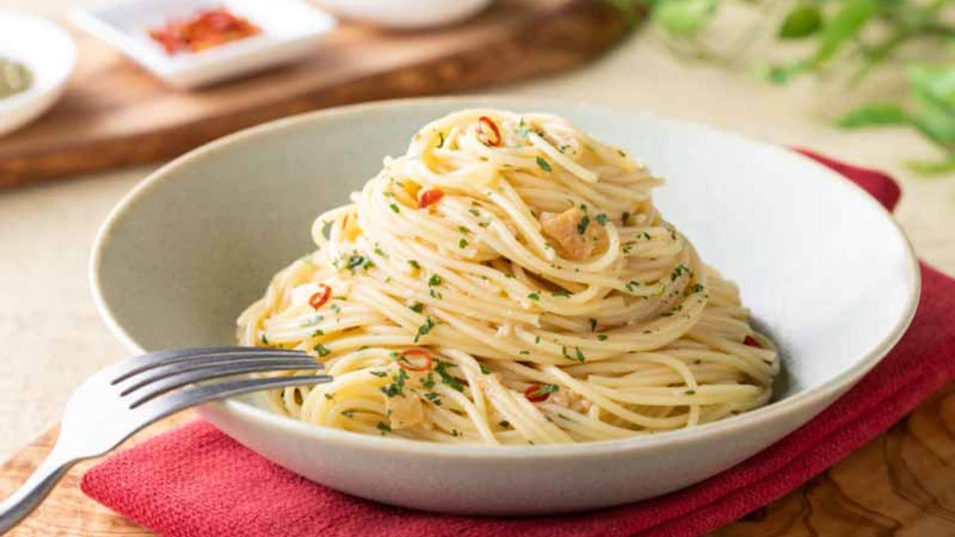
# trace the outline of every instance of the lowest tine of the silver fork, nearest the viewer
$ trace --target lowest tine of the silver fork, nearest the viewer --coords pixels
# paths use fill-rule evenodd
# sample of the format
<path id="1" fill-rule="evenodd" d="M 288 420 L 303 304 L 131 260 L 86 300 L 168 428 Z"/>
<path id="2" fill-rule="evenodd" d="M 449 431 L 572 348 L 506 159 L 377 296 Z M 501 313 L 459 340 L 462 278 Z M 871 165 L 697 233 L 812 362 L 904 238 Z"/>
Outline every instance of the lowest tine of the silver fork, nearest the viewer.
<path id="1" fill-rule="evenodd" d="M 241 380 L 227 380 L 205 384 L 189 390 L 182 390 L 167 396 L 157 397 L 147 401 L 139 412 L 149 414 L 149 420 L 165 418 L 191 406 L 196 406 L 213 399 L 238 396 L 249 392 L 260 392 L 276 388 L 292 386 L 308 386 L 324 384 L 332 380 L 331 376 L 275 376 L 269 378 L 244 378 Z"/>

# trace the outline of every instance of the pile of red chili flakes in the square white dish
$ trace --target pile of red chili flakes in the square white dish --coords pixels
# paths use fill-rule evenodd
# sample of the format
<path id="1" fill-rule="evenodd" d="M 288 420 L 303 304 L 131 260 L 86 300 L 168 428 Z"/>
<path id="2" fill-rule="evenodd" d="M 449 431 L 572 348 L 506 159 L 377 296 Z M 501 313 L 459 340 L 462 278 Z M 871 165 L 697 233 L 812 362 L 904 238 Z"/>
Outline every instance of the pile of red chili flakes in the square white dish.
<path id="1" fill-rule="evenodd" d="M 198 53 L 206 49 L 251 37 L 262 30 L 244 17 L 225 8 L 200 11 L 186 21 L 170 21 L 149 31 L 167 54 Z"/>

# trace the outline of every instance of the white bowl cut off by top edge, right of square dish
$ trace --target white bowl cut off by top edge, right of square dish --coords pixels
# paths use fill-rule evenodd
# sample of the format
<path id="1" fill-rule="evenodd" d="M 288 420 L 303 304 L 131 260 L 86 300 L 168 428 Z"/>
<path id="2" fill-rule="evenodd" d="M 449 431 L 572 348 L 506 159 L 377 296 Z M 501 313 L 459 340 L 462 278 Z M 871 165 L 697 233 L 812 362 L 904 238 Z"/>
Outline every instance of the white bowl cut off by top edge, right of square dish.
<path id="1" fill-rule="evenodd" d="M 336 15 L 371 26 L 416 30 L 454 24 L 494 0 L 314 0 Z"/>

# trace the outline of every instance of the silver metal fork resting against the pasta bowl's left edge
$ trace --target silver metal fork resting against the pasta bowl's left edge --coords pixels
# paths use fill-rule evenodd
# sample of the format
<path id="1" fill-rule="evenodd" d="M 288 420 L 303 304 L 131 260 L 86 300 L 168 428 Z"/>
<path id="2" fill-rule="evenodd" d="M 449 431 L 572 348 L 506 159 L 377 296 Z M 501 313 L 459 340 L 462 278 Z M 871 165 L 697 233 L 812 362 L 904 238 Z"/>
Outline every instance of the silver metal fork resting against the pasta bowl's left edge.
<path id="1" fill-rule="evenodd" d="M 213 399 L 331 380 L 314 375 L 223 376 L 321 368 L 322 364 L 300 351 L 252 347 L 159 351 L 106 367 L 76 388 L 67 401 L 53 450 L 30 479 L 0 504 L 0 534 L 30 514 L 74 463 L 106 453 L 158 419 Z M 220 380 L 206 382 L 215 378 Z"/>

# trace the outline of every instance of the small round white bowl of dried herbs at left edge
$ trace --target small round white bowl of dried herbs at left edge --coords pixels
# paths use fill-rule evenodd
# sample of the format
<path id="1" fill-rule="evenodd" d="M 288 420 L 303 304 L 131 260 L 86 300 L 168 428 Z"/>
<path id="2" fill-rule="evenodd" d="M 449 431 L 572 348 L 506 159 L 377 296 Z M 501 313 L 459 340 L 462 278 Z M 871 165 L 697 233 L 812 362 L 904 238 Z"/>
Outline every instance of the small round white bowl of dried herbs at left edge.
<path id="1" fill-rule="evenodd" d="M 76 45 L 53 22 L 0 9 L 0 57 L 19 61 L 33 75 L 29 89 L 0 98 L 0 136 L 38 118 L 63 94 L 76 64 Z"/>

